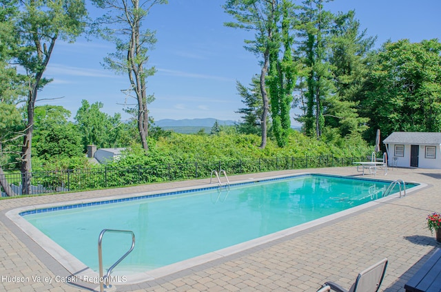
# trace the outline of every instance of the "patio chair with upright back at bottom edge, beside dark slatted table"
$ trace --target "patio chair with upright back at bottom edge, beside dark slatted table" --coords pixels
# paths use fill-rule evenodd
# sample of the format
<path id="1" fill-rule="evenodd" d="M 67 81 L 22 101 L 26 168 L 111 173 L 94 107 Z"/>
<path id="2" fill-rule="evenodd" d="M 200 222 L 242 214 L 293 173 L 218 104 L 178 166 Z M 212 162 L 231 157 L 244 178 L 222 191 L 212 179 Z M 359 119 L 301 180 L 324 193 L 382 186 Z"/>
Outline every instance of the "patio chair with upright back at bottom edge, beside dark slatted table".
<path id="1" fill-rule="evenodd" d="M 322 287 L 329 286 L 332 291 L 338 292 L 377 292 L 380 289 L 381 282 L 386 272 L 387 258 L 380 260 L 371 267 L 358 274 L 356 282 L 352 284 L 349 290 L 343 289 L 334 282 L 325 282 Z M 321 290 L 318 290 L 321 291 Z M 326 291 L 326 290 L 325 290 Z"/>

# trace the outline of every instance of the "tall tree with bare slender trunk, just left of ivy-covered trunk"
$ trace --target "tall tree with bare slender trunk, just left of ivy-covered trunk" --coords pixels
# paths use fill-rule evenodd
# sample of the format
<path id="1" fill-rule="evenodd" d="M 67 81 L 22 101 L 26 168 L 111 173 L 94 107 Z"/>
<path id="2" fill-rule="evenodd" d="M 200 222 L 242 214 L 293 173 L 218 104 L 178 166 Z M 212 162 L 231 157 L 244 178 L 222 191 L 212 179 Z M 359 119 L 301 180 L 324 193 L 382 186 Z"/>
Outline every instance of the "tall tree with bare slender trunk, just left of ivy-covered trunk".
<path id="1" fill-rule="evenodd" d="M 230 28 L 254 31 L 254 40 L 245 40 L 245 50 L 253 52 L 260 59 L 260 94 L 262 95 L 263 112 L 260 117 L 262 142 L 260 148 L 267 145 L 267 116 L 269 98 L 265 79 L 269 69 L 270 46 L 275 38 L 274 19 L 278 10 L 278 0 L 227 0 L 225 12 L 232 15 L 236 22 L 227 22 Z"/>

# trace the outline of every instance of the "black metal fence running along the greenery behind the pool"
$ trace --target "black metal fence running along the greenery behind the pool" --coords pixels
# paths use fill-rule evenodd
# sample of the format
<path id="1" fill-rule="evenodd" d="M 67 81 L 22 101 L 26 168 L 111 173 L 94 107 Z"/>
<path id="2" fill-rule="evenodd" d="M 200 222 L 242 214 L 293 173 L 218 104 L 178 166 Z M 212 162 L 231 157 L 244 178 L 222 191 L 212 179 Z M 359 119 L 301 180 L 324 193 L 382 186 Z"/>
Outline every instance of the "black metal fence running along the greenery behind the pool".
<path id="1" fill-rule="evenodd" d="M 92 169 L 67 169 L 63 171 L 39 171 L 31 174 L 31 194 L 55 193 L 61 191 L 81 191 L 141 185 L 154 182 L 208 178 L 212 170 L 223 169 L 228 175 L 250 174 L 256 172 L 285 169 L 307 169 L 315 167 L 342 167 L 353 165 L 356 161 L 365 161 L 367 156 L 338 158 L 333 155 L 259 158 L 242 160 L 223 160 L 192 163 L 167 163 L 147 167 L 99 167 Z M 6 174 L 8 183 L 21 187 L 23 174 Z M 0 179 L 4 179 L 0 178 Z M 3 189 L 1 189 L 3 191 Z M 20 191 L 15 191 L 21 194 Z M 2 193 L 2 196 L 6 194 Z"/>

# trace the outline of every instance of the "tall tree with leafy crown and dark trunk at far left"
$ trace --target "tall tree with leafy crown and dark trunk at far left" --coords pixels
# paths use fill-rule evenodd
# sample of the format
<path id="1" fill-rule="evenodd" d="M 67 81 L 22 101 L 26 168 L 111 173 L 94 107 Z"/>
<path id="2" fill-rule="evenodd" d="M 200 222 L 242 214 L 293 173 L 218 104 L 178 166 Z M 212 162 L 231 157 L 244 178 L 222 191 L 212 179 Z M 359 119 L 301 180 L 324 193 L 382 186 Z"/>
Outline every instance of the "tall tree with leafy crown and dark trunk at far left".
<path id="1" fill-rule="evenodd" d="M 16 60 L 25 70 L 28 93 L 25 101 L 26 121 L 21 149 L 23 194 L 30 194 L 32 133 L 37 93 L 50 82 L 44 72 L 57 39 L 74 41 L 85 28 L 87 11 L 83 0 L 23 0 L 14 19 L 14 31 L 19 36 Z"/>

